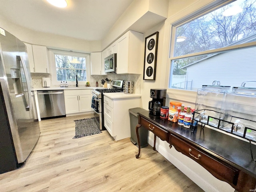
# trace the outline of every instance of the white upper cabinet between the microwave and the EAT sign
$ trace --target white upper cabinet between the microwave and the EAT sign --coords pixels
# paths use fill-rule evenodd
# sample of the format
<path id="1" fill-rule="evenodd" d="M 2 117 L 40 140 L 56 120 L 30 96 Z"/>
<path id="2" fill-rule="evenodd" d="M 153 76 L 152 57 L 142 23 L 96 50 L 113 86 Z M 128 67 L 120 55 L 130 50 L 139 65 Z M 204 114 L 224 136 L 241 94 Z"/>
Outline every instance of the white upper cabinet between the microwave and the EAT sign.
<path id="1" fill-rule="evenodd" d="M 142 74 L 143 34 L 128 31 L 117 41 L 117 74 Z"/>

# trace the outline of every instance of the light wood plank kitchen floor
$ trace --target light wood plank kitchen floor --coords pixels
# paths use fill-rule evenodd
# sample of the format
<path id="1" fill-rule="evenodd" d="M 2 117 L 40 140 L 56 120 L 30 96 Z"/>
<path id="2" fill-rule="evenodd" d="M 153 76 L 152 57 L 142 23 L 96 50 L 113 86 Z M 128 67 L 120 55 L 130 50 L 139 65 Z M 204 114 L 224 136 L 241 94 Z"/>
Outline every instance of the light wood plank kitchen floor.
<path id="1" fill-rule="evenodd" d="M 116 142 L 103 131 L 72 139 L 72 116 L 42 120 L 37 145 L 25 165 L 0 174 L 0 192 L 202 192 L 192 180 L 151 146 L 130 138 Z"/>

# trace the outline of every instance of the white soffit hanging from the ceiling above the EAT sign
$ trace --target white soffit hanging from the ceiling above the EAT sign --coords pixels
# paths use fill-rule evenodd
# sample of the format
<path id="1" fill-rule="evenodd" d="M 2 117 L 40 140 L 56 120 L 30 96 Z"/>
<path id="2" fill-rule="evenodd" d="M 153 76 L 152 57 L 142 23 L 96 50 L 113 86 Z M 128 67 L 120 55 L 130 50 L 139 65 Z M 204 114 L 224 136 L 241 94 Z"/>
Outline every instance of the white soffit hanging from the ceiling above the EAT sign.
<path id="1" fill-rule="evenodd" d="M 144 33 L 168 16 L 168 0 L 134 0 L 102 40 L 102 50 L 128 30 Z"/>

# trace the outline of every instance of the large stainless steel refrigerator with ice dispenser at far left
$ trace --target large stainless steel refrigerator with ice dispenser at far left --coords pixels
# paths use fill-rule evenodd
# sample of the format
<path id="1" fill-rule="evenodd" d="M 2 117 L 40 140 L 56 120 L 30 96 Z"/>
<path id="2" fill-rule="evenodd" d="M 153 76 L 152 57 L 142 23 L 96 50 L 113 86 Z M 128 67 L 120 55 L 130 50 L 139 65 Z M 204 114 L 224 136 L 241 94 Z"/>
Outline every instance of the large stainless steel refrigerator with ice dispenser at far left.
<path id="1" fill-rule="evenodd" d="M 0 28 L 0 173 L 22 166 L 39 135 L 26 46 Z"/>

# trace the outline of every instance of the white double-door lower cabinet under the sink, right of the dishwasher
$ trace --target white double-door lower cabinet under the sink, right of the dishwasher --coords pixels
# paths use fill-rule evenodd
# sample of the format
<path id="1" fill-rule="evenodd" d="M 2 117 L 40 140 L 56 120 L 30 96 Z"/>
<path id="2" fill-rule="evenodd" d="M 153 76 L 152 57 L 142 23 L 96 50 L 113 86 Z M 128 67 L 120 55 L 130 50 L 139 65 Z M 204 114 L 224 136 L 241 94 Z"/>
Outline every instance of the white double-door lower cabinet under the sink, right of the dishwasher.
<path id="1" fill-rule="evenodd" d="M 91 90 L 64 90 L 66 114 L 90 112 Z"/>

